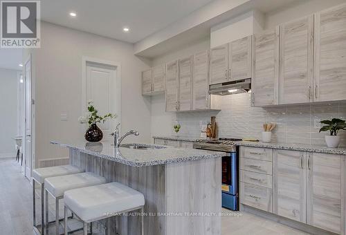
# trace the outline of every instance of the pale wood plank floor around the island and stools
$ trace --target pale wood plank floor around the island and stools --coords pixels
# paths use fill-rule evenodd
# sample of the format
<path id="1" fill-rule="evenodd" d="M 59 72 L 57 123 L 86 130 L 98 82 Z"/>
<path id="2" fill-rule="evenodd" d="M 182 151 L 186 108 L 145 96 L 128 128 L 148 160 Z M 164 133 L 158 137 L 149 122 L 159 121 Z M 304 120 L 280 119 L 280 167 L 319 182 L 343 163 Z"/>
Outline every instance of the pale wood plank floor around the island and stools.
<path id="1" fill-rule="evenodd" d="M 15 161 L 15 158 L 0 158 L 0 234 L 34 234 L 32 188 L 30 182 L 20 171 L 20 164 Z M 39 194 L 39 191 L 37 193 Z M 39 202 L 38 195 L 37 202 Z M 52 216 L 53 208 L 52 200 L 50 202 Z M 39 212 L 39 210 L 37 211 Z M 61 215 L 62 212 L 61 208 Z M 232 211 L 226 209 L 223 209 L 222 212 L 229 214 L 222 217 L 222 235 L 306 234 L 246 212 L 238 212 L 238 216 L 234 216 Z M 52 234 L 54 231 L 52 227 Z M 74 235 L 77 234 L 80 232 L 76 232 Z"/>

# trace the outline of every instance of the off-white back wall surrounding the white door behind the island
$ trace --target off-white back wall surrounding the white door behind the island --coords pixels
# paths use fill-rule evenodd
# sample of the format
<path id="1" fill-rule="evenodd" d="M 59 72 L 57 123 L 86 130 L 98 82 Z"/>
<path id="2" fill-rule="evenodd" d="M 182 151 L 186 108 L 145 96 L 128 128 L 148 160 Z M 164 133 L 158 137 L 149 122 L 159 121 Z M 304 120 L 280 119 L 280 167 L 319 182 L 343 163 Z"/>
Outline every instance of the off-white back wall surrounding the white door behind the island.
<path id="1" fill-rule="evenodd" d="M 42 159 L 68 155 L 51 140 L 84 140 L 82 57 L 118 62 L 122 79 L 122 131 L 136 129 L 128 141 L 150 142 L 150 104 L 141 95 L 140 71 L 148 68 L 134 56 L 133 45 L 51 23 L 42 23 L 41 48 L 33 52 L 36 99 L 36 166 Z M 61 121 L 66 113 L 68 120 Z"/>

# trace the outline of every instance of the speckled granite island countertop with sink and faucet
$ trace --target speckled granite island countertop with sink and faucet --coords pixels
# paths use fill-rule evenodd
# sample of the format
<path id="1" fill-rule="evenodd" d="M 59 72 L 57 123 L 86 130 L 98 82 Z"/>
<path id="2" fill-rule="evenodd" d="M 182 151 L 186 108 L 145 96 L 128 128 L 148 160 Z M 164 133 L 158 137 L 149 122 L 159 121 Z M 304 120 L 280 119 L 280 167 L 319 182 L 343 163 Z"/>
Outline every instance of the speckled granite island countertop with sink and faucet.
<path id="1" fill-rule="evenodd" d="M 157 144 L 158 149 L 128 149 L 118 148 L 115 151 L 112 142 L 66 142 L 51 141 L 51 144 L 57 144 L 60 147 L 68 147 L 78 150 L 82 153 L 97 156 L 107 160 L 113 160 L 132 167 L 146 167 L 158 164 L 170 164 L 176 162 L 187 162 L 191 160 L 201 160 L 207 158 L 219 158 L 225 156 L 223 152 L 206 151 L 200 149 L 178 149 Z"/>

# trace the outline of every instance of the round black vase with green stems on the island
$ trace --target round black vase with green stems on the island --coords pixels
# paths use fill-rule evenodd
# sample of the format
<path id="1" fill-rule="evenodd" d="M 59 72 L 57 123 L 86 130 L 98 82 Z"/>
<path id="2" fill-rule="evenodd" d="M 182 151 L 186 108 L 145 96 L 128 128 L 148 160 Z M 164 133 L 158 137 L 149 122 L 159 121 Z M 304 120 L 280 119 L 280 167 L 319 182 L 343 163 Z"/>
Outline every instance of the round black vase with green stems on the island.
<path id="1" fill-rule="evenodd" d="M 97 123 L 105 122 L 108 119 L 116 118 L 116 114 L 108 113 L 104 116 L 98 115 L 98 110 L 93 106 L 93 102 L 88 102 L 89 115 L 87 117 L 81 116 L 79 118 L 80 123 L 88 123 L 89 128 L 85 132 L 85 139 L 89 142 L 99 142 L 103 138 L 103 133 L 100 128 L 98 128 Z"/>

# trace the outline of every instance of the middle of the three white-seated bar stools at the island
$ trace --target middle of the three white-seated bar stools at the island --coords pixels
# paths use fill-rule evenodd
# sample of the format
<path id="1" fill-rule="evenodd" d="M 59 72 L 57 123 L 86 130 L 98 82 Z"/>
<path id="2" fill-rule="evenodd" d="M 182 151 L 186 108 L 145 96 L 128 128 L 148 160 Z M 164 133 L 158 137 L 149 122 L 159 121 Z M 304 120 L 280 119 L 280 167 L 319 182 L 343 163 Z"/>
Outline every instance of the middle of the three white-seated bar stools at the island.
<path id="1" fill-rule="evenodd" d="M 101 185 L 106 178 L 91 172 L 76 173 L 66 176 L 55 176 L 44 180 L 46 189 L 46 234 L 48 234 L 48 193 L 55 199 L 55 234 L 59 234 L 59 200 L 64 198 L 64 192 L 93 185 Z"/>

